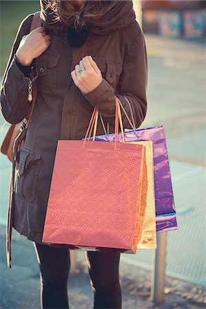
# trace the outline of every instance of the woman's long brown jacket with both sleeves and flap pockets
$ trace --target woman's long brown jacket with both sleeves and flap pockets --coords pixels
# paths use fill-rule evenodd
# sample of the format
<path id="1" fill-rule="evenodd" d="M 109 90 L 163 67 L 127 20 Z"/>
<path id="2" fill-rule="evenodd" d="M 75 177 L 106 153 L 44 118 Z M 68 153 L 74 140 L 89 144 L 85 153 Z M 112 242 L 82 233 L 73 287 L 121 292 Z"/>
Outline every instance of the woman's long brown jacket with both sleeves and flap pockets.
<path id="1" fill-rule="evenodd" d="M 32 16 L 23 19 L 16 34 L 1 84 L 1 108 L 7 122 L 16 124 L 27 114 L 27 78 L 14 60 L 23 35 L 30 32 Z M 148 62 L 144 34 L 135 21 L 131 1 L 119 1 L 104 22 L 89 22 L 89 37 L 82 47 L 69 47 L 65 41 L 67 25 L 51 25 L 49 14 L 42 26 L 52 35 L 49 47 L 36 58 L 38 94 L 34 113 L 19 155 L 19 174 L 12 209 L 12 227 L 29 240 L 41 242 L 52 180 L 58 139 L 82 139 L 93 106 L 96 106 L 109 132 L 114 132 L 115 95 L 129 112 L 123 95 L 130 101 L 139 127 L 146 116 Z M 70 72 L 91 55 L 102 71 L 103 80 L 90 93 L 83 94 Z M 130 124 L 122 113 L 125 128 Z M 97 135 L 104 134 L 99 122 Z M 69 162 L 68 162 L 69 164 Z M 75 203 L 75 201 L 73 201 Z"/>

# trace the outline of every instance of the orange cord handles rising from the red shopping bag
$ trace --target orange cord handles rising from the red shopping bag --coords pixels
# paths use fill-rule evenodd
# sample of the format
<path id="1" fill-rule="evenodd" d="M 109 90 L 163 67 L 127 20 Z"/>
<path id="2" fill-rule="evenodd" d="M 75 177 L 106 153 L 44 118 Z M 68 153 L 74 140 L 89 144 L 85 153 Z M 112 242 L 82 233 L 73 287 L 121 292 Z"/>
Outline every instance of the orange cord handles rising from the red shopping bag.
<path id="1" fill-rule="evenodd" d="M 89 122 L 89 126 L 87 128 L 87 132 L 86 132 L 85 137 L 84 137 L 82 147 L 85 147 L 87 138 L 88 139 L 91 138 L 92 130 L 93 130 L 93 141 L 95 141 L 97 126 L 98 126 L 98 115 L 99 115 L 98 109 L 95 107 L 93 109 L 93 113 L 91 115 L 91 119 L 90 119 L 90 122 Z M 124 128 L 123 128 L 123 124 L 122 124 L 122 115 L 121 115 L 118 99 L 115 98 L 115 149 L 117 148 L 117 140 L 118 140 L 118 123 L 120 124 L 120 128 L 121 128 L 122 141 L 125 143 Z"/>

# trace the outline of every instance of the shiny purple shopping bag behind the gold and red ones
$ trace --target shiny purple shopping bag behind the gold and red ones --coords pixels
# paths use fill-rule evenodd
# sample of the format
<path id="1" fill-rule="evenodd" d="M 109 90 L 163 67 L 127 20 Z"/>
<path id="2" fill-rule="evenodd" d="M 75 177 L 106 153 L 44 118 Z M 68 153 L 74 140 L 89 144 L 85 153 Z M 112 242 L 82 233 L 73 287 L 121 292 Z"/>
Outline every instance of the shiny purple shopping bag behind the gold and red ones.
<path id="1" fill-rule="evenodd" d="M 125 97 L 126 98 L 126 97 Z M 118 141 L 152 141 L 155 173 L 155 209 L 157 232 L 172 231 L 177 229 L 176 210 L 172 190 L 170 163 L 163 126 L 136 129 L 134 121 L 131 122 L 122 103 L 117 99 L 122 110 L 126 114 L 133 130 L 126 130 L 124 135 L 118 133 Z M 128 102 L 128 100 L 127 100 Z M 128 102 L 129 104 L 129 102 Z M 133 118 L 132 110 L 130 108 Z M 92 137 L 93 138 L 93 137 Z M 115 135 L 104 134 L 95 137 L 95 141 L 114 141 Z"/>

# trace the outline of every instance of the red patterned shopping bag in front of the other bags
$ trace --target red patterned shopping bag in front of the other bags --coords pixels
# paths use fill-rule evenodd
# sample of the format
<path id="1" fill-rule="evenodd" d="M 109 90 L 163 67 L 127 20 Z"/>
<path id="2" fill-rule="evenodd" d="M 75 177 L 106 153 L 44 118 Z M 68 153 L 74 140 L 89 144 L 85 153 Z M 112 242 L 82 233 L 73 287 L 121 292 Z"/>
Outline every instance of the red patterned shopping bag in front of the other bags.
<path id="1" fill-rule="evenodd" d="M 144 213 L 145 147 L 117 143 L 117 100 L 114 144 L 87 141 L 97 119 L 94 108 L 84 141 L 58 141 L 42 241 L 69 249 L 135 253 L 144 221 L 139 214 Z"/>

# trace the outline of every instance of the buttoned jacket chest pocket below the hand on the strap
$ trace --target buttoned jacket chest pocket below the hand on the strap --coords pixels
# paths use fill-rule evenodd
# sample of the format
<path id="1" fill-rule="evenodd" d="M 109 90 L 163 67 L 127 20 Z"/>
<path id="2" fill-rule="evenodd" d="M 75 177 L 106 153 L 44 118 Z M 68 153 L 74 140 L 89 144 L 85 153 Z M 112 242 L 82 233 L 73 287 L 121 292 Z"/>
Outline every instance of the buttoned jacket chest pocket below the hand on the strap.
<path id="1" fill-rule="evenodd" d="M 41 54 L 38 57 L 38 89 L 42 93 L 52 94 L 57 88 L 58 61 L 60 54 Z"/>

